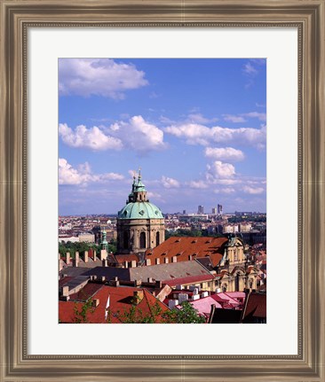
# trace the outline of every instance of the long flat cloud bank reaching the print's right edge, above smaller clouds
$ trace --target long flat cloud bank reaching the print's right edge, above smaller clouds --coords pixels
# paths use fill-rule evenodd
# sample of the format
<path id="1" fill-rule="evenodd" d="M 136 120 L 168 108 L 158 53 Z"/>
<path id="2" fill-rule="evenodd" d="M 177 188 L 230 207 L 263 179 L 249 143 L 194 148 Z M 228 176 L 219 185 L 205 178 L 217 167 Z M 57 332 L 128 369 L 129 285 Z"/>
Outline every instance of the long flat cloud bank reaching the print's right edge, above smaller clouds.
<path id="1" fill-rule="evenodd" d="M 184 123 L 170 125 L 164 131 L 173 136 L 184 138 L 187 144 L 202 144 L 208 146 L 216 144 L 238 143 L 258 146 L 266 143 L 266 126 L 261 129 L 239 128 L 229 129 L 219 126 L 208 128 L 201 124 Z"/>

